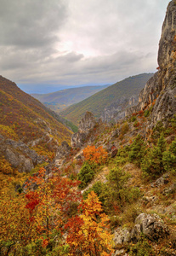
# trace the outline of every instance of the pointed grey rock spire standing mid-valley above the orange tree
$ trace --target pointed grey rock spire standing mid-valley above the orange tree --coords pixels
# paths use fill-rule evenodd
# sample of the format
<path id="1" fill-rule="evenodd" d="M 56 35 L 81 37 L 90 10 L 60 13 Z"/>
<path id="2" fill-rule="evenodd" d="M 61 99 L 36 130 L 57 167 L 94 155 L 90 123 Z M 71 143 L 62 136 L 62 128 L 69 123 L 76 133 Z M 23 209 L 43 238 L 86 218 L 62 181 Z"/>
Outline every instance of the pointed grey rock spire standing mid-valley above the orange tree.
<path id="1" fill-rule="evenodd" d="M 91 131 L 96 125 L 94 114 L 86 112 L 85 116 L 79 123 L 79 128 L 77 133 L 74 133 L 71 137 L 71 147 L 72 148 L 82 148 L 82 145 L 85 143 L 89 137 Z"/>

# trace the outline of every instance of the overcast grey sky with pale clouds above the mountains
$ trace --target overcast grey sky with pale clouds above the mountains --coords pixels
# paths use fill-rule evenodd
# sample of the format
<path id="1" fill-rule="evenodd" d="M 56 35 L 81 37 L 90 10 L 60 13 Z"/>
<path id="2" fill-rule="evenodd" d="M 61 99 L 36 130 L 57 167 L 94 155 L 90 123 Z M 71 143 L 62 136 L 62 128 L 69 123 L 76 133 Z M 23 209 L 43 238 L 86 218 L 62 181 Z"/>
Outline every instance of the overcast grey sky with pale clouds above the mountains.
<path id="1" fill-rule="evenodd" d="M 0 74 L 27 93 L 155 73 L 169 0 L 0 0 Z"/>

